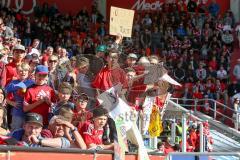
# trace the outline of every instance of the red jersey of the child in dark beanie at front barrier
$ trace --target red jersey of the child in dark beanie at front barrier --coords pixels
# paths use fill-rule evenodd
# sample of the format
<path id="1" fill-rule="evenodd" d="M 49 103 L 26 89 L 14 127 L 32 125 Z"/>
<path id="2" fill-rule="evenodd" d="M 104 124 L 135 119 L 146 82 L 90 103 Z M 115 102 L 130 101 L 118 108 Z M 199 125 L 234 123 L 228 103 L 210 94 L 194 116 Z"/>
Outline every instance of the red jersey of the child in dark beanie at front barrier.
<path id="1" fill-rule="evenodd" d="M 94 125 L 90 122 L 84 123 L 80 133 L 88 147 L 90 144 L 96 145 L 103 144 L 102 142 L 103 129 L 98 130 L 94 129 Z"/>

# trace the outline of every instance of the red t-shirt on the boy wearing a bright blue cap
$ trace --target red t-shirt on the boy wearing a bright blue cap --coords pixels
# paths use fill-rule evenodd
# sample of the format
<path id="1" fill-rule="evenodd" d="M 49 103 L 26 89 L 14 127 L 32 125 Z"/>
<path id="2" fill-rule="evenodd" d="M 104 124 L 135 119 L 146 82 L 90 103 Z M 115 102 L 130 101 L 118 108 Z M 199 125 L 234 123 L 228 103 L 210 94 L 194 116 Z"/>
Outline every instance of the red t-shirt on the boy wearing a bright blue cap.
<path id="1" fill-rule="evenodd" d="M 38 86 L 35 85 L 32 88 L 29 88 L 24 96 L 24 104 L 33 104 L 37 102 L 41 97 L 48 97 L 51 102 L 55 102 L 55 93 L 54 90 L 48 85 Z M 33 108 L 29 112 L 38 113 L 43 117 L 43 124 L 48 124 L 48 113 L 51 106 L 46 102 L 41 103 L 37 107 Z"/>

